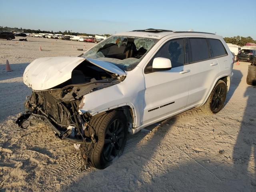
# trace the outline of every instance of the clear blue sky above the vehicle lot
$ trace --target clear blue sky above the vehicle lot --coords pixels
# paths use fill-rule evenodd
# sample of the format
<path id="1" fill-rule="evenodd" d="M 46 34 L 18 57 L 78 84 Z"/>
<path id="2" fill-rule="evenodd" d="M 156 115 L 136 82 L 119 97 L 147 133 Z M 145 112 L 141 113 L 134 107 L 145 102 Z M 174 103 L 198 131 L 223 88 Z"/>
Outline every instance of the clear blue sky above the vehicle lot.
<path id="1" fill-rule="evenodd" d="M 256 40 L 256 0 L 0 0 L 0 26 L 115 34 L 136 29 L 211 32 Z M 244 7 L 240 9 L 240 7 Z M 250 11 L 251 10 L 251 11 Z"/>

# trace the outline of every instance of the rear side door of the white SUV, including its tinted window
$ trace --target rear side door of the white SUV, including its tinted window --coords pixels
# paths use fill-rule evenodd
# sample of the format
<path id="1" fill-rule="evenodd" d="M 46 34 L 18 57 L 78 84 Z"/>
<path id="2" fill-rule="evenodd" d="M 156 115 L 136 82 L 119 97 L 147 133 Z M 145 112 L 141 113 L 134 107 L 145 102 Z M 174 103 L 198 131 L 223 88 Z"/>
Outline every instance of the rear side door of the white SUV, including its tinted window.
<path id="1" fill-rule="evenodd" d="M 206 38 L 188 38 L 190 43 L 191 80 L 188 106 L 203 102 L 214 81 L 220 76 L 218 60 L 210 55 Z"/>

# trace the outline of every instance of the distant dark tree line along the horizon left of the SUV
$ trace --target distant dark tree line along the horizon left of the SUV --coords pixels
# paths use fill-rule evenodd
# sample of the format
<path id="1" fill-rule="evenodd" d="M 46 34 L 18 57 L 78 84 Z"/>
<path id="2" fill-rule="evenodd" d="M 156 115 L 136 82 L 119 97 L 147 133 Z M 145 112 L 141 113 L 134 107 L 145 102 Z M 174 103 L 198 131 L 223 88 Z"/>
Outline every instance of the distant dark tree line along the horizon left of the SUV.
<path id="1" fill-rule="evenodd" d="M 61 32 L 61 31 L 58 31 L 58 32 L 53 32 L 53 31 L 45 31 L 45 30 L 33 30 L 33 29 L 22 29 L 22 28 L 17 28 L 17 27 L 3 27 L 3 26 L 0 26 L 0 31 L 9 31 L 9 32 L 13 32 L 13 31 L 16 31 L 16 32 L 23 32 L 23 33 L 51 33 L 51 34 L 62 34 L 62 35 L 80 35 L 80 36 L 95 36 L 95 35 L 98 35 L 98 34 L 87 34 L 87 33 L 78 33 L 78 32 L 70 32 L 69 30 L 67 31 L 64 31 L 64 32 Z M 107 36 L 109 37 L 110 34 L 101 34 L 101 36 Z"/>

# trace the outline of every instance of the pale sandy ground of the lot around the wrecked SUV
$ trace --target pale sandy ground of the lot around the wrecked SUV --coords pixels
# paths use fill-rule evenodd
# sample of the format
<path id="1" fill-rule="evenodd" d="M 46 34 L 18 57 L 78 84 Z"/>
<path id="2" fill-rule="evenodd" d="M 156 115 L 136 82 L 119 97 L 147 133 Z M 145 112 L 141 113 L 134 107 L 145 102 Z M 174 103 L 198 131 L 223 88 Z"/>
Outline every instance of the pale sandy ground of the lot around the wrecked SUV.
<path id="1" fill-rule="evenodd" d="M 29 62 L 77 56 L 76 48 L 94 44 L 28 39 L 24 46 L 0 40 L 0 191 L 256 191 L 256 88 L 246 84 L 249 63 L 234 65 L 218 114 L 192 109 L 149 126 L 129 135 L 110 167 L 81 172 L 80 153 L 71 144 L 45 125 L 20 129 L 15 121 L 30 94 L 22 82 Z M 13 72 L 5 72 L 6 59 Z"/>

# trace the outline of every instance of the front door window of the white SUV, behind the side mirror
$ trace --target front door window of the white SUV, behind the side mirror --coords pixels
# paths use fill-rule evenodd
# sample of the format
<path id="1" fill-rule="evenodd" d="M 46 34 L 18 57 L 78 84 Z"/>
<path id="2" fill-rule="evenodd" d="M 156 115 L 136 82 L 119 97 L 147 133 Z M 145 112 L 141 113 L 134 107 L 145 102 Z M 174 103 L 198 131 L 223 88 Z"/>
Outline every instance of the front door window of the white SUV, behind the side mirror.
<path id="1" fill-rule="evenodd" d="M 170 40 L 160 48 L 154 58 L 156 57 L 170 59 L 172 68 L 183 66 L 185 63 L 184 39 Z"/>

